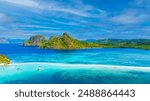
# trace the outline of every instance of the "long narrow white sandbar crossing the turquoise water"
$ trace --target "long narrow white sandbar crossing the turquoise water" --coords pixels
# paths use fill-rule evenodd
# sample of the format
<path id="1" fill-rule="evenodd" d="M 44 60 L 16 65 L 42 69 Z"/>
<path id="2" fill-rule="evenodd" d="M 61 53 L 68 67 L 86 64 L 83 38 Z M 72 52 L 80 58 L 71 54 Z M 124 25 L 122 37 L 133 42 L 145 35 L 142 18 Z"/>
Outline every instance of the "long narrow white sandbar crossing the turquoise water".
<path id="1" fill-rule="evenodd" d="M 29 62 L 29 63 L 12 63 L 9 66 L 18 66 L 18 65 L 51 65 L 59 67 L 74 67 L 74 68 L 108 68 L 108 69 L 126 69 L 126 70 L 142 70 L 150 72 L 150 67 L 142 66 L 121 66 L 121 65 L 104 65 L 104 64 L 69 64 L 69 63 L 49 63 L 49 62 Z M 68 68 L 71 69 L 71 68 Z"/>

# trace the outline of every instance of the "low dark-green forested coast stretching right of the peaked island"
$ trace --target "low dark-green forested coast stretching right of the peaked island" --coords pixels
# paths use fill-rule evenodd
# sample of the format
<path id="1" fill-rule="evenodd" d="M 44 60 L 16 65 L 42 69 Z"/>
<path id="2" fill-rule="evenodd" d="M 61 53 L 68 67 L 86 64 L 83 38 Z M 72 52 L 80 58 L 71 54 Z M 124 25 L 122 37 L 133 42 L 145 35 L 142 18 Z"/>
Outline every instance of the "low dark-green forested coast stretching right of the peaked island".
<path id="1" fill-rule="evenodd" d="M 150 50 L 149 39 L 105 39 L 95 40 L 94 43 L 101 45 L 103 48 L 136 48 Z"/>

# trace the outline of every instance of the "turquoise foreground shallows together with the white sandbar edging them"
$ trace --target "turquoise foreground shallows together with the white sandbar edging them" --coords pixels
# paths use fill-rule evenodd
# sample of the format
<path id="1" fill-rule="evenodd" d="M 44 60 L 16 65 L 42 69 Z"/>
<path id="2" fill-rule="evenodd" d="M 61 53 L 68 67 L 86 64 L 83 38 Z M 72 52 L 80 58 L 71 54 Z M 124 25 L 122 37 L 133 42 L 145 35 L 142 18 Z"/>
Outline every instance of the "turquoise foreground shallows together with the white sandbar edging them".
<path id="1" fill-rule="evenodd" d="M 38 70 L 41 66 L 43 70 Z M 139 67 L 138 67 L 139 68 Z M 27 63 L 0 69 L 6 84 L 135 84 L 150 83 L 150 69 L 108 65 Z"/>

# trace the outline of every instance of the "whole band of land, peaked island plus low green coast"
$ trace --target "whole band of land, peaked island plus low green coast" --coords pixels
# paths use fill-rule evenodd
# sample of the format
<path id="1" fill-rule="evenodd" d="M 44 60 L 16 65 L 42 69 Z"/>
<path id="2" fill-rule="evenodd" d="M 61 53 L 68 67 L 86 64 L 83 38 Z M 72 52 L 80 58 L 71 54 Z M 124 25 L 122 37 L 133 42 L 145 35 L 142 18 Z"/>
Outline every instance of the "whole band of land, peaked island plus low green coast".
<path id="1" fill-rule="evenodd" d="M 68 33 L 62 36 L 51 36 L 46 40 L 42 35 L 30 37 L 23 43 L 23 46 L 37 46 L 47 49 L 85 49 L 85 48 L 136 48 L 150 50 L 150 40 L 148 39 L 103 39 L 79 41 Z"/>

